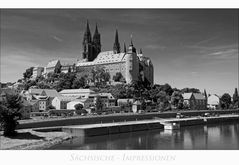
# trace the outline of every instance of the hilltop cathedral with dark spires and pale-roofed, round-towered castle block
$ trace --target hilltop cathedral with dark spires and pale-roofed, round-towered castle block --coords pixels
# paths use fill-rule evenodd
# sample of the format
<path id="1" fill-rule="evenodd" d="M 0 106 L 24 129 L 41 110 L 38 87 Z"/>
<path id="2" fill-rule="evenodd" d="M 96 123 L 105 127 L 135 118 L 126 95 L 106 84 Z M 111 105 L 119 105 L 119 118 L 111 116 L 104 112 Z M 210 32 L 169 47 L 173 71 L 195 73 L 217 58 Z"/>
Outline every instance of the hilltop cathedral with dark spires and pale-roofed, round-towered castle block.
<path id="1" fill-rule="evenodd" d="M 92 38 L 87 21 L 82 46 L 82 58 L 76 63 L 76 67 L 103 67 L 110 74 L 110 83 L 115 83 L 114 77 L 121 74 L 124 82 L 128 84 L 140 80 L 150 85 L 154 84 L 154 68 L 150 58 L 145 57 L 141 49 L 139 52 L 136 50 L 132 38 L 128 49 L 124 44 L 122 51 L 117 30 L 113 50 L 102 52 L 98 27 L 96 25 Z"/>

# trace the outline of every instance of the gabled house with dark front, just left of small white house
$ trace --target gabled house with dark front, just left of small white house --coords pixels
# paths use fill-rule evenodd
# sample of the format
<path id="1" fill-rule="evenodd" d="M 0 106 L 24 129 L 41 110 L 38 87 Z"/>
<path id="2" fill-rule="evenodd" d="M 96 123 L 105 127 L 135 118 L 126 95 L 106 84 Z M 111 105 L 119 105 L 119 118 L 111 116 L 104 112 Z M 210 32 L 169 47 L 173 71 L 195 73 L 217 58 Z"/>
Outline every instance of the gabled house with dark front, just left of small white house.
<path id="1" fill-rule="evenodd" d="M 201 93 L 184 93 L 184 105 L 191 110 L 206 110 L 207 99 Z"/>

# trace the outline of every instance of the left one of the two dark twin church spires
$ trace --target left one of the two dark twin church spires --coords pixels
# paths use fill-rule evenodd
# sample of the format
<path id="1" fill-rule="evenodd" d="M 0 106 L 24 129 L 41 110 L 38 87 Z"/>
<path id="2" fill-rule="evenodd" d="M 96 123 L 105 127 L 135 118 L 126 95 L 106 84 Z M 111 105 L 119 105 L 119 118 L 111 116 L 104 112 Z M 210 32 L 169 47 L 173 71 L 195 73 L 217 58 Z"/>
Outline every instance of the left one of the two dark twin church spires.
<path id="1" fill-rule="evenodd" d="M 83 45 L 83 59 L 86 59 L 87 61 L 92 61 L 93 47 L 92 47 L 91 32 L 90 32 L 90 26 L 89 26 L 88 20 L 86 22 L 86 30 L 84 33 L 82 45 Z"/>

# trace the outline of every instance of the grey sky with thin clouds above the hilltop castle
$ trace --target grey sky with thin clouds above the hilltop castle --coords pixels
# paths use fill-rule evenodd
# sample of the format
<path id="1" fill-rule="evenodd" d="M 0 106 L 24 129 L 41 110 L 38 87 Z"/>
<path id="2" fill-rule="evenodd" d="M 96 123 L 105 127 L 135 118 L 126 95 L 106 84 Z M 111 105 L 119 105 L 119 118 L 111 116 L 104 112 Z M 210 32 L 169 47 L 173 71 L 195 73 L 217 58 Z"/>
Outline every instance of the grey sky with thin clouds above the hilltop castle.
<path id="1" fill-rule="evenodd" d="M 89 20 L 101 34 L 102 51 L 112 50 L 118 29 L 121 47 L 132 35 L 150 57 L 154 81 L 233 94 L 238 88 L 238 11 L 230 9 L 3 9 L 1 82 L 15 82 L 31 66 L 49 60 L 81 59 Z"/>

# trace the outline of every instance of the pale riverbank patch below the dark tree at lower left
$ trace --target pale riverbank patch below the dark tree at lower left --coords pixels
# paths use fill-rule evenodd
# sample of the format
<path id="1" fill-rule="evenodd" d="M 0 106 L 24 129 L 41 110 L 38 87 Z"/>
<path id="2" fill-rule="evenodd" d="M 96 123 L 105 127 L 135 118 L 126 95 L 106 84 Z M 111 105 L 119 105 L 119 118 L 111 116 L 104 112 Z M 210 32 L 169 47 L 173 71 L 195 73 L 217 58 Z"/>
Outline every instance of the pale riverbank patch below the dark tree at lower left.
<path id="1" fill-rule="evenodd" d="M 31 129 L 18 130 L 15 137 L 4 137 L 0 132 L 1 150 L 42 150 L 72 138 L 65 132 L 37 132 Z"/>

